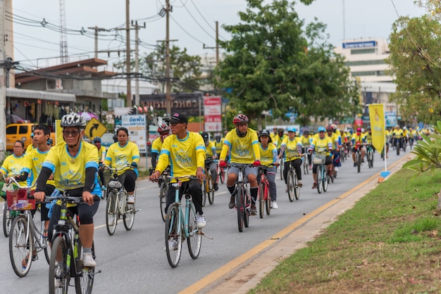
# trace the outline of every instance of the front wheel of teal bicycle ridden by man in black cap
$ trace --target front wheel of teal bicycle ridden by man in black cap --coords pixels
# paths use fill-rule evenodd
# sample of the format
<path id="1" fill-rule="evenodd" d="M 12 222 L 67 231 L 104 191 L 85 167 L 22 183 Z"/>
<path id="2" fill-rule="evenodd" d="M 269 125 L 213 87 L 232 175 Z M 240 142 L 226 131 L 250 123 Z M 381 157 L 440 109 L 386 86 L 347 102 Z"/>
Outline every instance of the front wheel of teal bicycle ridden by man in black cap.
<path id="1" fill-rule="evenodd" d="M 182 250 L 182 230 L 178 206 L 174 203 L 168 207 L 166 219 L 166 253 L 170 267 L 178 267 Z"/>

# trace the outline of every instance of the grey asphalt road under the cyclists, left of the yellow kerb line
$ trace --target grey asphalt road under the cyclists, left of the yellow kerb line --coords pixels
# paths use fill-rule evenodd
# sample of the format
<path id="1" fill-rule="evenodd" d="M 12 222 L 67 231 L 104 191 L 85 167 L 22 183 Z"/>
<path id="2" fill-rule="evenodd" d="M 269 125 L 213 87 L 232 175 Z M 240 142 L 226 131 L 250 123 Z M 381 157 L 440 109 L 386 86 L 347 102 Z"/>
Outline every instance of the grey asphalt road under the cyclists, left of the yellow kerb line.
<path id="1" fill-rule="evenodd" d="M 407 153 L 404 153 L 407 154 Z M 389 154 L 388 164 L 403 156 Z M 202 239 L 199 258 L 192 260 L 187 245 L 182 246 L 182 256 L 177 268 L 172 269 L 163 250 L 164 223 L 159 212 L 159 188 L 147 179 L 137 181 L 137 208 L 135 224 L 126 231 L 122 220 L 118 222 L 116 233 L 108 236 L 105 226 L 105 203 L 101 203 L 95 215 L 94 242 L 97 252 L 97 269 L 101 274 L 95 276 L 94 293 L 178 293 L 197 283 L 213 271 L 223 267 L 244 253 L 253 250 L 277 232 L 301 219 L 305 214 L 316 210 L 325 203 L 338 198 L 368 177 L 372 177 L 385 167 L 378 153 L 375 153 L 373 169 L 365 163 L 357 173 L 351 162 L 340 167 L 334 184 L 328 191 L 318 194 L 311 189 L 312 175 L 303 175 L 304 187 L 299 200 L 290 203 L 285 184 L 277 177 L 278 205 L 271 215 L 260 219 L 258 215 L 250 218 L 249 228 L 240 233 L 237 230 L 235 210 L 228 209 L 229 196 L 225 184 L 215 193 L 213 205 L 207 201 L 204 207 L 206 228 L 209 238 Z M 311 172 L 311 171 L 310 171 Z M 0 281 L 2 293 L 47 293 L 49 266 L 43 254 L 32 262 L 29 274 L 24 278 L 15 276 L 8 255 L 8 238 L 0 236 Z M 71 287 L 72 291 L 75 291 Z"/>

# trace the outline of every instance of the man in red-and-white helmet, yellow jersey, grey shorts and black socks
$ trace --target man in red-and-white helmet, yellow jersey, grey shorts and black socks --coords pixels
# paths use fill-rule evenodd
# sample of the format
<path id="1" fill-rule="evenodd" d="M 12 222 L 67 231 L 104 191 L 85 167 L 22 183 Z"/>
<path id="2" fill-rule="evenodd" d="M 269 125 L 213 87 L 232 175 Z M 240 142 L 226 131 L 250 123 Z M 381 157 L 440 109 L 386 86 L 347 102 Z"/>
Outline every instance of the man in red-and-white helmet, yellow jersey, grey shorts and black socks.
<path id="1" fill-rule="evenodd" d="M 236 115 L 232 122 L 235 124 L 235 129 L 232 129 L 225 136 L 223 141 L 223 148 L 221 152 L 219 165 L 226 167 L 225 157 L 230 153 L 230 162 L 237 164 L 253 164 L 254 167 L 246 167 L 244 177 L 249 182 L 249 193 L 251 194 L 251 213 L 256 213 L 256 198 L 257 198 L 257 168 L 260 165 L 261 155 L 259 148 L 259 139 L 254 129 L 248 127 L 248 117 L 244 114 Z M 237 167 L 230 167 L 227 179 L 227 188 L 230 191 L 231 198 L 228 207 L 230 209 L 235 207 L 235 188 L 239 169 Z"/>

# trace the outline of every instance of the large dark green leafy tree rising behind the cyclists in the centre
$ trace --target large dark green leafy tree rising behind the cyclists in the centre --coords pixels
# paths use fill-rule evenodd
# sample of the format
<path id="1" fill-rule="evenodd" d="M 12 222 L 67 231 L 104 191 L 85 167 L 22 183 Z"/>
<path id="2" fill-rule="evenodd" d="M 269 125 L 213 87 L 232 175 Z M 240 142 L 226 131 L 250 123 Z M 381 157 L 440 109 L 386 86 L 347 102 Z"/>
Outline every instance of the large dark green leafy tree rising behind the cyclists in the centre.
<path id="1" fill-rule="evenodd" d="M 311 23 L 304 30 L 294 1 L 247 2 L 241 22 L 224 26 L 232 38 L 222 43 L 226 54 L 217 68 L 232 106 L 257 119 L 263 110 L 273 110 L 273 117 L 292 111 L 302 125 L 311 117 L 353 114 L 359 95 L 327 42 L 325 25 Z"/>

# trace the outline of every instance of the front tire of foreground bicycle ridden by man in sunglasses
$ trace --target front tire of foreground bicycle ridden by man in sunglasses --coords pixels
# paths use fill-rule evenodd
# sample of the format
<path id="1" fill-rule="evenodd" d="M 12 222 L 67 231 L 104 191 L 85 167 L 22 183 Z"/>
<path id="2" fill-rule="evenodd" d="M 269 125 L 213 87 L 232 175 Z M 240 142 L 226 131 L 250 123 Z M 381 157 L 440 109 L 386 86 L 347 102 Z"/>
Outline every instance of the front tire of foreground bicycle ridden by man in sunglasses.
<path id="1" fill-rule="evenodd" d="M 58 255 L 58 249 L 59 246 L 61 246 L 61 250 L 63 251 L 62 256 L 62 260 L 63 260 L 63 264 L 61 265 L 61 269 L 63 271 L 66 270 L 66 262 L 68 259 L 68 247 L 66 244 L 66 240 L 62 237 L 62 236 L 57 236 L 54 240 L 54 242 L 52 243 L 52 251 L 51 251 L 51 262 L 49 262 L 49 294 L 55 294 L 55 269 L 56 269 L 56 263 L 58 264 L 59 261 L 56 260 L 56 257 Z M 68 275 L 68 273 L 61 273 L 61 276 L 63 276 L 62 279 L 62 290 L 63 293 L 68 293 L 68 286 L 69 286 L 69 280 L 70 280 L 70 275 Z"/>

